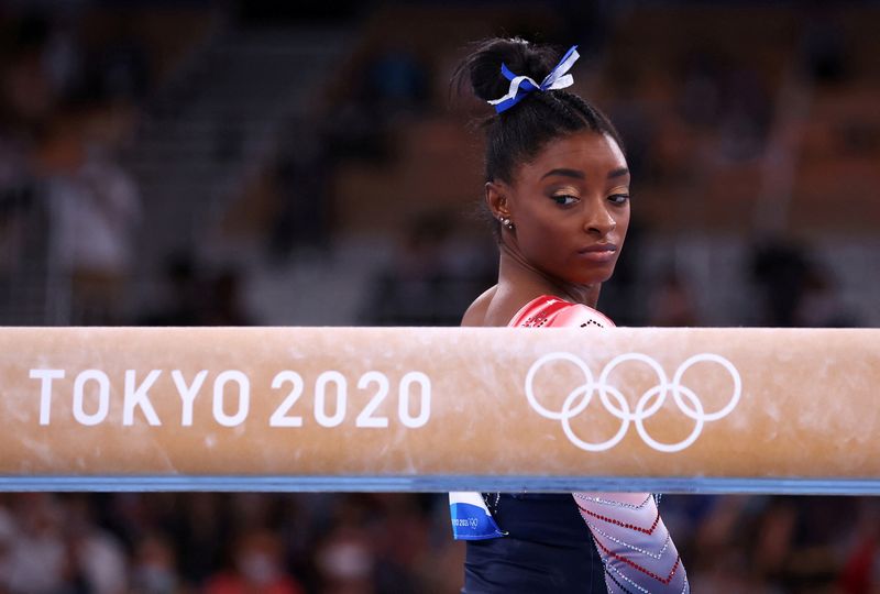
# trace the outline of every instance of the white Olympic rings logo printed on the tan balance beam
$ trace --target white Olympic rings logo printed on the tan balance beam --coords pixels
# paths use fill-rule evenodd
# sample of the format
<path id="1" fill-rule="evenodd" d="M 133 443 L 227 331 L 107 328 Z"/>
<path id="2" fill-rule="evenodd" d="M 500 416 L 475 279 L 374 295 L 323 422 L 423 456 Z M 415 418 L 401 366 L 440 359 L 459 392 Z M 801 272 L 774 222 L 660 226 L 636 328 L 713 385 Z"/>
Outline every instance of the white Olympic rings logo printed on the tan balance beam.
<path id="1" fill-rule="evenodd" d="M 535 375 L 544 364 L 552 361 L 568 361 L 573 363 L 583 372 L 585 378 L 585 382 L 581 386 L 578 386 L 571 391 L 560 410 L 550 410 L 546 408 L 535 396 Z M 635 411 L 630 410 L 629 403 L 627 403 L 626 398 L 624 398 L 624 394 L 608 383 L 608 376 L 610 373 L 617 369 L 617 366 L 630 361 L 640 362 L 648 365 L 653 370 L 658 378 L 657 385 L 645 392 L 638 399 Z M 682 384 L 682 376 L 684 373 L 693 365 L 703 362 L 717 363 L 727 370 L 727 372 L 730 374 L 730 377 L 734 380 L 734 391 L 730 395 L 729 402 L 724 408 L 715 413 L 706 413 L 704 410 L 703 403 L 700 400 L 696 394 L 694 394 L 691 388 Z M 595 381 L 590 367 L 587 367 L 581 359 L 571 353 L 564 352 L 549 353 L 541 356 L 531 365 L 528 374 L 526 375 L 526 397 L 528 398 L 531 407 L 544 418 L 562 421 L 562 429 L 565 431 L 565 436 L 568 436 L 569 440 L 571 440 L 575 447 L 588 452 L 602 452 L 617 446 L 617 443 L 624 439 L 624 436 L 626 436 L 630 424 L 636 425 L 636 430 L 638 431 L 639 437 L 641 437 L 645 443 L 654 450 L 661 452 L 679 452 L 696 441 L 696 439 L 700 437 L 700 433 L 703 431 L 703 426 L 706 422 L 718 420 L 729 415 L 739 402 L 739 396 L 741 393 L 743 381 L 739 377 L 739 372 L 737 369 L 725 358 L 712 353 L 694 355 L 686 360 L 675 371 L 672 382 L 668 380 L 663 367 L 661 367 L 656 360 L 641 353 L 627 353 L 616 356 L 607 365 L 605 365 L 604 370 L 602 370 L 598 382 Z M 598 399 L 605 409 L 613 416 L 620 419 L 620 428 L 617 430 L 614 437 L 598 443 L 584 441 L 574 433 L 574 430 L 571 427 L 571 419 L 583 413 L 586 407 L 590 406 L 590 403 L 593 400 L 593 396 L 595 394 L 598 394 Z M 679 407 L 679 409 L 686 417 L 694 420 L 694 428 L 686 438 L 676 443 L 662 443 L 653 439 L 648 433 L 648 430 L 645 428 L 645 420 L 652 417 L 658 410 L 660 410 L 670 394 L 672 395 L 672 399 L 675 402 L 675 405 Z"/>

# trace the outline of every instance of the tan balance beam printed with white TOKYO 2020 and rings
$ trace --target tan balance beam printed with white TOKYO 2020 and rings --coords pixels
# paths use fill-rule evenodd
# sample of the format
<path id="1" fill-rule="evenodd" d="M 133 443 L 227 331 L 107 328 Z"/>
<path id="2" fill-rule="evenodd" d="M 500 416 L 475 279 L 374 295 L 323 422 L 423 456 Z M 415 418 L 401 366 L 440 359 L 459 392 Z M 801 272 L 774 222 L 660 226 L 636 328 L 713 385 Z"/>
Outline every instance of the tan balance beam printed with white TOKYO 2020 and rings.
<path id="1" fill-rule="evenodd" d="M 880 331 L 2 328 L 0 491 L 880 493 Z"/>

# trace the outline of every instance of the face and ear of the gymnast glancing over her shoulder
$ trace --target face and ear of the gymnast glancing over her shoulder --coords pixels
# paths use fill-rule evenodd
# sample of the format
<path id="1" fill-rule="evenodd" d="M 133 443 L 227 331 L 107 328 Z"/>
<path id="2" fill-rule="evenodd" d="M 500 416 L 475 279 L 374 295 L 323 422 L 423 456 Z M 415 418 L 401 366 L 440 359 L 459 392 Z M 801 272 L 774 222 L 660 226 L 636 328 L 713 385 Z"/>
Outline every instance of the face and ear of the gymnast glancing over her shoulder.
<path id="1" fill-rule="evenodd" d="M 510 184 L 487 184 L 486 197 L 514 223 L 503 241 L 541 273 L 578 285 L 610 277 L 629 227 L 629 169 L 610 136 L 551 141 Z"/>

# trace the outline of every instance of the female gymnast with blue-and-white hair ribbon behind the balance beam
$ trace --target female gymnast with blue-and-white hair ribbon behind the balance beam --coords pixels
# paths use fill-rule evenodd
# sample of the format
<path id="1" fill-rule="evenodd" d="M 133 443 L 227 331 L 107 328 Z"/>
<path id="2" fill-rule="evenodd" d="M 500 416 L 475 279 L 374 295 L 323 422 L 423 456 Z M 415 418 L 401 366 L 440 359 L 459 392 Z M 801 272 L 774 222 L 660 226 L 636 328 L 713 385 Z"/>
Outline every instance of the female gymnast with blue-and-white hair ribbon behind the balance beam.
<path id="1" fill-rule="evenodd" d="M 496 111 L 485 204 L 501 252 L 498 284 L 462 326 L 613 326 L 593 308 L 626 238 L 629 170 L 608 119 L 562 90 L 576 59 L 575 47 L 559 58 L 496 38 L 455 73 Z M 689 591 L 651 494 L 452 493 L 450 503 L 455 538 L 468 540 L 466 594 Z M 461 521 L 474 508 L 479 521 Z"/>

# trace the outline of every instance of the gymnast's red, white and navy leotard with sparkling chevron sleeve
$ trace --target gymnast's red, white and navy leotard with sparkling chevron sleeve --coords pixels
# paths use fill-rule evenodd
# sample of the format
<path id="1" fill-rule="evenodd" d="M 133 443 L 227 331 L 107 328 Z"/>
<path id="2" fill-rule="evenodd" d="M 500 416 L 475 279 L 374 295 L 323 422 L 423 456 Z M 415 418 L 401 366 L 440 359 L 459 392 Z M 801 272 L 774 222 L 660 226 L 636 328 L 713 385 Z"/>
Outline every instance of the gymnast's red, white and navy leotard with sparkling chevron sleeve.
<path id="1" fill-rule="evenodd" d="M 508 327 L 613 328 L 614 322 L 584 305 L 544 295 L 526 304 Z M 451 493 L 450 509 L 455 538 L 469 541 L 466 594 L 689 592 L 651 494 Z"/>

